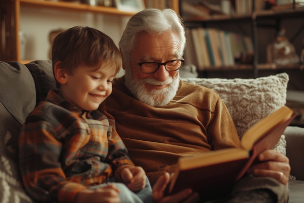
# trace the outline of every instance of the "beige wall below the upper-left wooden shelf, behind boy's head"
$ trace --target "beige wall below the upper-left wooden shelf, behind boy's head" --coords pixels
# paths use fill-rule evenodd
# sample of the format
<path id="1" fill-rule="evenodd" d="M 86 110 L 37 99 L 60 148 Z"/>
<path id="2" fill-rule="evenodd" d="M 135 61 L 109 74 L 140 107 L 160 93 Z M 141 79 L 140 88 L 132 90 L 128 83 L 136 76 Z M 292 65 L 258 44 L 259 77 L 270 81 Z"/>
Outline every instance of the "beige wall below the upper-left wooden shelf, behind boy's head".
<path id="1" fill-rule="evenodd" d="M 64 11 L 21 6 L 20 31 L 25 34 L 26 60 L 49 59 L 49 34 L 52 30 L 68 29 L 75 25 L 90 26 L 101 30 L 118 41 L 130 17 Z"/>

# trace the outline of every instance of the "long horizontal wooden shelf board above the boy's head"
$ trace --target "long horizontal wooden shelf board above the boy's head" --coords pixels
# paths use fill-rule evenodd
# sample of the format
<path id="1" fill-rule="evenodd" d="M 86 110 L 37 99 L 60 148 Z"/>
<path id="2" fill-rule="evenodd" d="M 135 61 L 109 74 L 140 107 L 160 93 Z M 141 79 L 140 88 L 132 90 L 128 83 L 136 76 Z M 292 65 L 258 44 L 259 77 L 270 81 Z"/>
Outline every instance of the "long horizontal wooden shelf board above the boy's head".
<path id="1" fill-rule="evenodd" d="M 134 12 L 120 11 L 115 7 L 91 6 L 84 3 L 75 3 L 68 1 L 49 1 L 49 0 L 17 0 L 22 6 L 37 8 L 61 9 L 68 11 L 95 12 L 110 15 L 133 16 Z"/>

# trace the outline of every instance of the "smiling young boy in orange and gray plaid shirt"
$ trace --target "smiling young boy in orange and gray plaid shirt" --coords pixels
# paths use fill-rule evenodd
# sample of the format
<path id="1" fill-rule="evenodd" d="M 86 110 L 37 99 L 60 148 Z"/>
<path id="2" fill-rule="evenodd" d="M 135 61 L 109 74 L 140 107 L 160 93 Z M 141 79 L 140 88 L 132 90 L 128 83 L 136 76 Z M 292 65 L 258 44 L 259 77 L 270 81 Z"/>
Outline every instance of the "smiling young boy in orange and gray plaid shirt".
<path id="1" fill-rule="evenodd" d="M 25 189 L 44 203 L 152 203 L 145 172 L 128 157 L 113 117 L 95 111 L 121 67 L 113 40 L 72 27 L 54 39 L 52 66 L 59 90 L 48 93 L 20 133 Z"/>

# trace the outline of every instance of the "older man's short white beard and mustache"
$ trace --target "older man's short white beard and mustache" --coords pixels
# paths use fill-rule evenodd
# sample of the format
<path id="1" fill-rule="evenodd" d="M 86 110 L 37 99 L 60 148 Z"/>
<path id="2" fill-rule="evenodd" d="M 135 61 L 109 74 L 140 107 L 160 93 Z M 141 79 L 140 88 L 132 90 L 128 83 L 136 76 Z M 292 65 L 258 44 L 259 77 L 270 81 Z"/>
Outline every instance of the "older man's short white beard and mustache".
<path id="1" fill-rule="evenodd" d="M 179 87 L 179 74 L 176 74 L 175 78 L 169 77 L 166 81 L 161 82 L 155 78 L 147 78 L 141 80 L 135 80 L 132 78 L 132 73 L 130 68 L 125 71 L 126 86 L 130 92 L 139 101 L 148 104 L 152 107 L 159 107 L 168 104 L 176 95 Z M 169 87 L 163 88 L 161 90 L 147 91 L 145 84 L 150 85 L 168 85 Z"/>

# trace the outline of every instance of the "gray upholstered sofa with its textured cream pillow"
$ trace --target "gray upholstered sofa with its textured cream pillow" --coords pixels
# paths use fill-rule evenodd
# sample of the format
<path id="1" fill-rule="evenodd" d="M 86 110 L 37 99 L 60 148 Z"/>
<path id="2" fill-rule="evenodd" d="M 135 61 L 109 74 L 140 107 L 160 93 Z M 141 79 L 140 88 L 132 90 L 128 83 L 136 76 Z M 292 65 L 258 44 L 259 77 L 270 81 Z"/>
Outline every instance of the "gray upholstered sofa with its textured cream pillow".
<path id="1" fill-rule="evenodd" d="M 257 79 L 183 78 L 218 92 L 239 135 L 286 102 L 287 74 Z M 32 203 L 17 169 L 17 137 L 26 116 L 55 87 L 50 61 L 0 62 L 0 202 Z M 287 127 L 276 146 L 291 165 L 290 203 L 304 202 L 304 129 Z M 292 180 L 296 179 L 296 180 Z"/>

